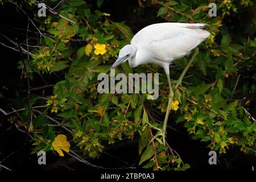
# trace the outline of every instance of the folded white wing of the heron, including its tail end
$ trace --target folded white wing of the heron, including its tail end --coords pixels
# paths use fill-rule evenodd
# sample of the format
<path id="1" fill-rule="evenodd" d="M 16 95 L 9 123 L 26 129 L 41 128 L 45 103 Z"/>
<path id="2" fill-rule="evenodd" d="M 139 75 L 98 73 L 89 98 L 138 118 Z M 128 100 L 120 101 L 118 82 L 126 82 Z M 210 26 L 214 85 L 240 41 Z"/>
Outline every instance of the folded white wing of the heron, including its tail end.
<path id="1" fill-rule="evenodd" d="M 210 34 L 200 23 L 158 23 L 139 31 L 131 40 L 138 48 L 147 49 L 156 59 L 168 61 L 187 55 Z"/>

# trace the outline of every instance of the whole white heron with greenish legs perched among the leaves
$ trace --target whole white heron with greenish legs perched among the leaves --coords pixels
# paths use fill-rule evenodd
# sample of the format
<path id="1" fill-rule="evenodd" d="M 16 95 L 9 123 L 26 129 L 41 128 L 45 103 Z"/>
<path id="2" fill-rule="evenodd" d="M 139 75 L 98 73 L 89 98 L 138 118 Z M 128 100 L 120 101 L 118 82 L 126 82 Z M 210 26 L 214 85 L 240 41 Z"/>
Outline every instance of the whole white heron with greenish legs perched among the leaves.
<path id="1" fill-rule="evenodd" d="M 156 64 L 164 68 L 166 72 L 168 85 L 170 88 L 169 101 L 166 111 L 166 117 L 162 129 L 150 125 L 159 132 L 152 138 L 151 142 L 159 136 L 163 137 L 165 144 L 165 134 L 168 115 L 170 113 L 171 102 L 174 97 L 170 80 L 169 65 L 173 60 L 188 55 L 193 48 L 196 48 L 210 33 L 202 30 L 208 24 L 203 23 L 156 23 L 144 27 L 131 40 L 131 44 L 123 47 L 118 55 L 118 59 L 110 67 L 113 69 L 125 61 L 129 62 L 131 68 L 135 68 L 141 64 Z M 196 48 L 191 60 L 189 60 L 184 71 L 181 73 L 175 89 L 181 84 L 181 80 L 195 59 L 198 53 Z M 107 73 L 110 72 L 110 69 Z"/>

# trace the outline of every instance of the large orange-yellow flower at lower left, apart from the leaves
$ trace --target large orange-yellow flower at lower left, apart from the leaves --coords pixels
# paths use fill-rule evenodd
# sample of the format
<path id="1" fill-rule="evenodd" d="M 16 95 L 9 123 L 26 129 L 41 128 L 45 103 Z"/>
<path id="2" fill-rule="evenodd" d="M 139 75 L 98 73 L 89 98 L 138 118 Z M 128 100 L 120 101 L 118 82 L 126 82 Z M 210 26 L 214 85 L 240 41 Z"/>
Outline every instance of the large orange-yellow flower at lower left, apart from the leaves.
<path id="1" fill-rule="evenodd" d="M 60 156 L 64 156 L 63 151 L 69 152 L 70 144 L 67 141 L 67 137 L 63 134 L 57 135 L 57 137 L 52 142 L 54 150 L 56 150 Z"/>

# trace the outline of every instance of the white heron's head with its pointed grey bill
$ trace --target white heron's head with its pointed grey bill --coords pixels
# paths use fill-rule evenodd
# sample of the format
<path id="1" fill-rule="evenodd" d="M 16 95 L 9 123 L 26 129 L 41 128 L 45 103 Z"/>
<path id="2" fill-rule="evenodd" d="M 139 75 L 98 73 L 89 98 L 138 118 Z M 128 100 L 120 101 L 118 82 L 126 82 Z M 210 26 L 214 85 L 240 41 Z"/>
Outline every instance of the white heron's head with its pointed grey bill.
<path id="1" fill-rule="evenodd" d="M 131 60 L 137 52 L 137 47 L 132 46 L 131 44 L 126 45 L 125 47 L 123 47 L 118 55 L 117 60 L 115 61 L 115 63 L 109 68 L 109 71 L 106 72 L 106 74 L 108 74 L 110 72 L 110 69 L 114 69 L 115 67 L 117 67 L 118 65 L 125 63 L 126 61 Z"/>

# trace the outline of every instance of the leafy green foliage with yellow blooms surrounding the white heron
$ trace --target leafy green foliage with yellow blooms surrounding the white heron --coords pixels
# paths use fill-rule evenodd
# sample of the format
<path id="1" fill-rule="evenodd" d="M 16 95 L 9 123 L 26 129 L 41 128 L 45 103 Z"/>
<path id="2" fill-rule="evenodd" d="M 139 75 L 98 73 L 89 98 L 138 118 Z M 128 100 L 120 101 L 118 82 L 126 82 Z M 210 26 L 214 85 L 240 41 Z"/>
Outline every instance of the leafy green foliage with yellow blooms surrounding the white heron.
<path id="1" fill-rule="evenodd" d="M 49 1 L 46 1 L 46 3 Z M 236 81 L 240 71 L 255 68 L 256 39 L 255 24 L 245 23 L 246 32 L 232 31 L 224 19 L 236 16 L 240 11 L 253 6 L 249 0 L 216 1 L 217 17 L 208 16 L 210 1 L 151 1 L 144 6 L 158 9 L 157 16 L 168 22 L 208 23 L 211 35 L 201 44 L 199 55 L 189 69 L 190 77 L 184 79 L 183 86 L 175 90 L 174 100 L 179 101 L 179 109 L 171 111 L 176 123 L 187 128 L 192 139 L 207 142 L 212 150 L 225 153 L 233 146 L 242 152 L 255 150 L 256 122 L 241 104 L 243 95 L 253 93 L 254 84 L 245 82 L 242 86 Z M 52 3 L 52 2 L 51 2 Z M 101 7 L 103 0 L 97 0 Z M 185 170 L 189 164 L 183 163 L 179 155 L 161 143 L 148 142 L 153 137 L 150 123 L 159 124 L 149 117 L 144 102 L 165 112 L 168 102 L 167 81 L 164 75 L 159 78 L 160 97 L 146 100 L 146 94 L 99 94 L 97 76 L 106 72 L 117 58 L 119 49 L 133 37 L 130 28 L 123 22 L 110 20 L 111 16 L 93 9 L 85 1 L 64 2 L 61 16 L 49 15 L 40 23 L 40 30 L 47 33 L 42 47 L 35 49 L 29 65 L 30 78 L 35 73 L 51 74 L 64 72 L 65 79 L 56 83 L 52 96 L 48 97 L 47 110 L 37 115 L 31 131 L 32 141 L 39 150 L 53 151 L 51 143 L 60 129 L 68 135 L 72 147 L 78 147 L 90 158 L 98 157 L 107 144 L 125 138 L 133 139 L 139 133 L 139 165 L 143 168 L 162 170 Z M 255 20 L 255 19 L 254 19 Z M 72 23 L 73 22 L 73 23 Z M 255 23 L 255 22 L 254 22 Z M 105 46 L 97 48 L 96 45 Z M 176 79 L 188 63 L 189 57 L 175 60 L 177 68 L 171 70 L 171 78 Z M 20 61 L 20 68 L 23 63 Z M 134 70 L 127 64 L 116 72 L 141 73 L 147 65 Z M 162 72 L 153 66 L 154 72 Z M 255 70 L 255 69 L 254 69 Z M 189 83 L 189 84 L 186 84 Z M 236 91 L 237 92 L 233 92 Z M 1 94 L 0 94 L 1 96 Z M 18 106 L 18 105 L 17 105 Z M 20 115 L 25 127 L 27 110 Z M 48 126 L 46 114 L 58 117 L 61 126 L 72 130 L 67 133 L 59 126 Z M 171 122 L 171 121 L 170 121 Z M 153 146 L 154 144 L 154 146 Z"/>

